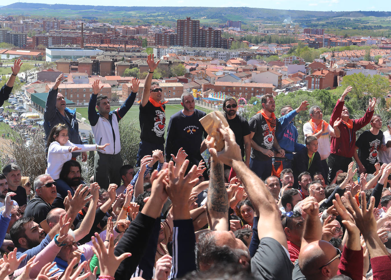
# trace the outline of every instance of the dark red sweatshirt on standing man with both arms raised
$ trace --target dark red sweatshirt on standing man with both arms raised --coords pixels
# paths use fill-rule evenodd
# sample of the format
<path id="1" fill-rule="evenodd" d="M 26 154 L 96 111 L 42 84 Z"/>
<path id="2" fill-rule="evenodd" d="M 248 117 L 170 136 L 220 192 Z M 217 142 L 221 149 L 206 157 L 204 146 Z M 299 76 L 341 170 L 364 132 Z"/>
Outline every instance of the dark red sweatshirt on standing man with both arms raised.
<path id="1" fill-rule="evenodd" d="M 331 114 L 330 125 L 334 126 L 334 122 L 337 118 L 341 117 L 342 108 L 344 106 L 344 101 L 337 101 L 335 104 L 334 110 Z M 342 157 L 353 157 L 354 148 L 356 145 L 356 131 L 360 128 L 368 125 L 373 116 L 373 111 L 365 112 L 364 116 L 360 119 L 353 119 L 353 128 L 348 128 L 344 123 L 341 123 L 338 128 L 341 131 L 341 136 L 339 138 L 331 137 L 331 154 L 339 155 Z"/>

